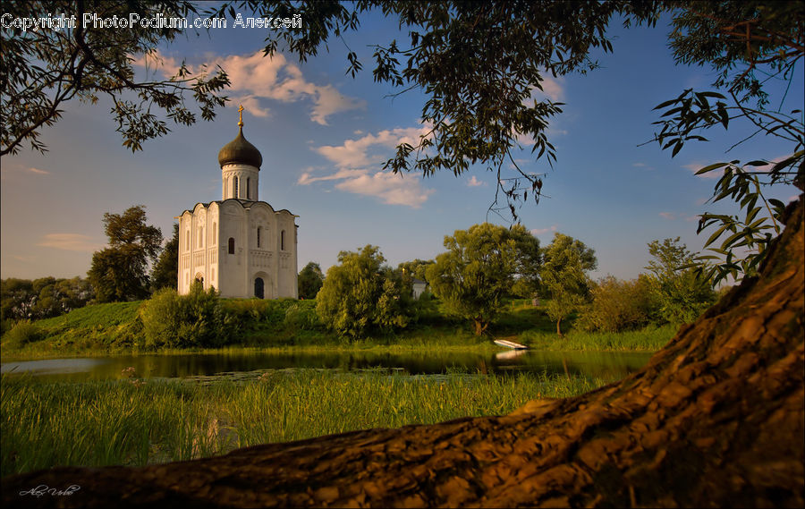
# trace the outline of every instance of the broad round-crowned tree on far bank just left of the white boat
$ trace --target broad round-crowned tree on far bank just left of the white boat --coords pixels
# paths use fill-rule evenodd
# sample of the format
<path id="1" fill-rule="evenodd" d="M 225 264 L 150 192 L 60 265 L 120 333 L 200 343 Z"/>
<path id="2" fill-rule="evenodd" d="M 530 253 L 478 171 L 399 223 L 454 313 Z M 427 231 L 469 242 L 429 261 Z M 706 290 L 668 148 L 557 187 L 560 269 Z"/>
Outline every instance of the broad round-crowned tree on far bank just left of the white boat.
<path id="1" fill-rule="evenodd" d="M 445 236 L 447 252 L 426 274 L 445 309 L 474 324 L 481 335 L 500 312 L 521 267 L 532 266 L 539 241 L 523 225 L 511 228 L 483 223 Z"/>

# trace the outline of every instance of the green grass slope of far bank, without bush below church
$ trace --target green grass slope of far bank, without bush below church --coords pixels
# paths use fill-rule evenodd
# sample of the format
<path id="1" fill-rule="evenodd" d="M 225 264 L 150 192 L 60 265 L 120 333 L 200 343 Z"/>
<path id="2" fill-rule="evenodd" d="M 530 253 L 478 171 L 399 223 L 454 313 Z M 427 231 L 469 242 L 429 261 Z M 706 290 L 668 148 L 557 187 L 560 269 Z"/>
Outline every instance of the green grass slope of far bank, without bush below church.
<path id="1" fill-rule="evenodd" d="M 674 336 L 674 327 L 651 327 L 619 334 L 583 333 L 565 328 L 555 334 L 555 324 L 545 312 L 524 301 L 507 302 L 489 335 L 477 337 L 470 324 L 445 316 L 436 302 L 423 307 L 418 319 L 396 335 L 377 335 L 359 340 L 340 337 L 318 322 L 315 301 L 259 301 L 222 299 L 225 313 L 225 346 L 260 349 L 485 349 L 491 338 L 506 337 L 539 350 L 653 351 Z M 169 352 L 171 348 L 148 346 L 140 308 L 143 301 L 87 306 L 56 318 L 22 322 L 3 335 L 4 361 L 115 353 Z M 490 337 L 491 336 L 491 337 Z M 177 348 L 177 347 L 172 347 Z M 184 345 L 182 352 L 202 351 L 203 345 Z"/>

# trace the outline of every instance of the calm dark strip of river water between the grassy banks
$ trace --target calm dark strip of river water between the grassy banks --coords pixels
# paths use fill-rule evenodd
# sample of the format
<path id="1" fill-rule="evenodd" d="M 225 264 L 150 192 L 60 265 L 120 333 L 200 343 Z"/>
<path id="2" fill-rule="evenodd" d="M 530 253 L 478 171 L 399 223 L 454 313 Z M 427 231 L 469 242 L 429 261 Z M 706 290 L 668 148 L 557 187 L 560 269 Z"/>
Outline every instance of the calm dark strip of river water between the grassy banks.
<path id="1" fill-rule="evenodd" d="M 560 373 L 599 378 L 623 378 L 642 368 L 651 353 L 638 352 L 216 352 L 182 355 L 123 355 L 115 357 L 13 361 L 0 365 L 3 373 L 30 373 L 48 380 L 83 381 L 121 378 L 133 366 L 143 378 L 236 376 L 263 369 L 389 369 L 402 374 Z"/>

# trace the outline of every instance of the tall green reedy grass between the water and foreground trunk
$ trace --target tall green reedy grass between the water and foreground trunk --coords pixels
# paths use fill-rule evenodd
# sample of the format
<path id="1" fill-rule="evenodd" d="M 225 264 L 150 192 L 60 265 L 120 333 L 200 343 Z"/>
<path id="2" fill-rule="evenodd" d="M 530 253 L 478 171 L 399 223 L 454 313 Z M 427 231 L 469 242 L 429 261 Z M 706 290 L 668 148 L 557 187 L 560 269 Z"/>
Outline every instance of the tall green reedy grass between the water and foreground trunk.
<path id="1" fill-rule="evenodd" d="M 4 376 L 2 475 L 55 465 L 144 465 L 362 428 L 508 413 L 613 380 L 359 376 L 301 370 L 245 381 L 80 384 Z"/>

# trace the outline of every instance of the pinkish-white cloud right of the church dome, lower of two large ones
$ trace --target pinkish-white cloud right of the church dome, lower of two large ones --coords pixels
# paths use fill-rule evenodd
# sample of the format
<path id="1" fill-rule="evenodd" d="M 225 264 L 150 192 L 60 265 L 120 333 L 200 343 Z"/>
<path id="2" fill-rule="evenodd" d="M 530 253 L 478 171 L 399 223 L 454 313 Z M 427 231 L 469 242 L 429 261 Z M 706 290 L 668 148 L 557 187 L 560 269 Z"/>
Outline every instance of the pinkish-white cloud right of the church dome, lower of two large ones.
<path id="1" fill-rule="evenodd" d="M 309 185 L 313 182 L 337 181 L 335 189 L 374 196 L 389 205 L 406 205 L 419 208 L 436 192 L 422 186 L 417 175 L 392 174 L 378 168 L 391 155 L 391 150 L 400 143 L 419 145 L 419 137 L 427 135 L 427 126 L 397 128 L 368 133 L 354 140 L 344 140 L 342 145 L 313 148 L 318 154 L 335 163 L 337 170 L 332 174 L 314 175 L 308 168 L 301 174 L 297 183 Z"/>

